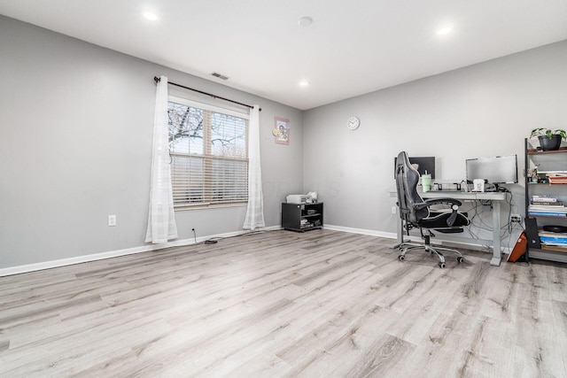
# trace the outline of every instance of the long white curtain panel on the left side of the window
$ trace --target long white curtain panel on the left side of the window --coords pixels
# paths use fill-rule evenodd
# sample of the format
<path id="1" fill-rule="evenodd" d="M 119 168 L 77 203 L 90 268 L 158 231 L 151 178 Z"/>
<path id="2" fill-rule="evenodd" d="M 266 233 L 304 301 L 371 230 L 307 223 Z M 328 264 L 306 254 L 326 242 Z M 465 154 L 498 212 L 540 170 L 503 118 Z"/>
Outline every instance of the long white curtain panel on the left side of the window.
<path id="1" fill-rule="evenodd" d="M 159 78 L 156 111 L 153 118 L 153 153 L 151 158 L 150 214 L 145 243 L 167 243 L 177 237 L 174 199 L 169 170 L 167 134 L 167 77 Z"/>

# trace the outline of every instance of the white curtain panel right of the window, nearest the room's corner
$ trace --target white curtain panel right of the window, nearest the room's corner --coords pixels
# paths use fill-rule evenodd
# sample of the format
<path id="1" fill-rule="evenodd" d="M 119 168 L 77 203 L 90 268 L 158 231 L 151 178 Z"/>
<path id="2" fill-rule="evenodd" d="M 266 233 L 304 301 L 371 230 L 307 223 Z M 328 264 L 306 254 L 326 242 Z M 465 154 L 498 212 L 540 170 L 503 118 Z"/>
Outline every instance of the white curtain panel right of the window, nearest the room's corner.
<path id="1" fill-rule="evenodd" d="M 260 107 L 254 105 L 248 126 L 248 207 L 243 228 L 264 227 L 264 200 L 260 169 Z"/>

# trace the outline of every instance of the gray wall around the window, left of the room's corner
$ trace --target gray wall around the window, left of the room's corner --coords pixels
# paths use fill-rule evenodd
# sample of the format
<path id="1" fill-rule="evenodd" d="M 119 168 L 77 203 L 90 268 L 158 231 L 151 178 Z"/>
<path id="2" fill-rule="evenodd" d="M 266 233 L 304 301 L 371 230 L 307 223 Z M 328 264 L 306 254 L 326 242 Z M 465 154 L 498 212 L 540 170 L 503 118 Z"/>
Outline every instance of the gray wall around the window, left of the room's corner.
<path id="1" fill-rule="evenodd" d="M 267 226 L 302 189 L 299 110 L 3 16 L 0 35 L 0 269 L 144 246 L 155 75 L 260 104 Z M 274 143 L 276 116 L 289 146 Z M 244 216 L 176 212 L 180 239 L 241 231 Z"/>

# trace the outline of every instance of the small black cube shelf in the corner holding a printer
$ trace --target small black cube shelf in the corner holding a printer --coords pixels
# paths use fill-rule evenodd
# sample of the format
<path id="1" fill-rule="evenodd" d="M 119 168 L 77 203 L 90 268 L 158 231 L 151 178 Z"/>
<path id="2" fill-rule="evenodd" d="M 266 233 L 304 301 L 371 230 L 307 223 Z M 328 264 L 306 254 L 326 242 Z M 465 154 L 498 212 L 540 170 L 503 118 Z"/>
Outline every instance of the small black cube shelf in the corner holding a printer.
<path id="1" fill-rule="evenodd" d="M 282 204 L 282 227 L 305 232 L 322 228 L 322 202 L 314 204 Z"/>

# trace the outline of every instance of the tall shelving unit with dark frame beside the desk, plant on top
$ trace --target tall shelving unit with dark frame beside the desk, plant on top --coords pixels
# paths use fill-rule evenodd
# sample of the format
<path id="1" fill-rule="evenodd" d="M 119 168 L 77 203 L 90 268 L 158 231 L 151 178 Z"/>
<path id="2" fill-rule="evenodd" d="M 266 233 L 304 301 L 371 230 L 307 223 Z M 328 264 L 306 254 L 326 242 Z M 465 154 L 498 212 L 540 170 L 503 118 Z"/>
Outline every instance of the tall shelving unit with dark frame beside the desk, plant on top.
<path id="1" fill-rule="evenodd" d="M 534 214 L 530 211 L 532 196 L 548 196 L 557 198 L 567 204 L 567 185 L 563 183 L 542 183 L 548 171 L 567 172 L 567 148 L 559 150 L 537 150 L 530 141 L 524 139 L 524 177 L 525 177 L 525 235 L 528 240 L 526 258 L 541 258 L 553 261 L 567 262 L 567 247 L 545 245 L 540 241 L 540 230 L 543 226 L 567 226 L 565 215 Z M 530 172 L 538 166 L 539 182 L 532 182 Z M 548 167 L 551 166 L 551 169 Z M 543 169 L 541 169 L 543 168 Z M 545 210 L 541 210 L 545 212 Z"/>

